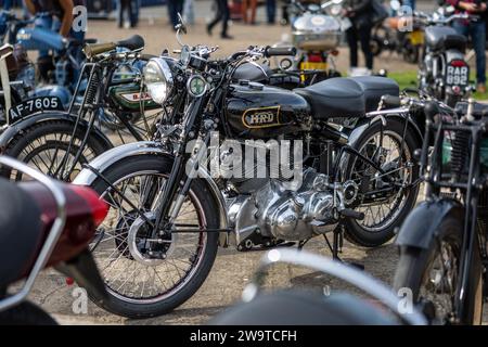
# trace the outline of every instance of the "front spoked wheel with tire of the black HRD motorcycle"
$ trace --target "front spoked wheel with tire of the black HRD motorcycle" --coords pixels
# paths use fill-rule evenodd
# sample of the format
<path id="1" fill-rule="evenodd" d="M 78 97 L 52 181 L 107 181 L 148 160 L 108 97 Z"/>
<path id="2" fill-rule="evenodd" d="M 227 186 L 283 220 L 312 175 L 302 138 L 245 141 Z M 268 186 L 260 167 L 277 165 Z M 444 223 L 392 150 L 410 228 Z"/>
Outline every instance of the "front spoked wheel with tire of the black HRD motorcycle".
<path id="1" fill-rule="evenodd" d="M 167 313 L 198 290 L 214 264 L 218 233 L 205 230 L 218 229 L 218 207 L 202 181 L 193 181 L 175 223 L 155 231 L 170 169 L 165 157 L 138 156 L 102 172 L 113 187 L 103 180 L 92 185 L 111 207 L 91 245 L 111 298 L 93 299 L 113 313 Z"/>

